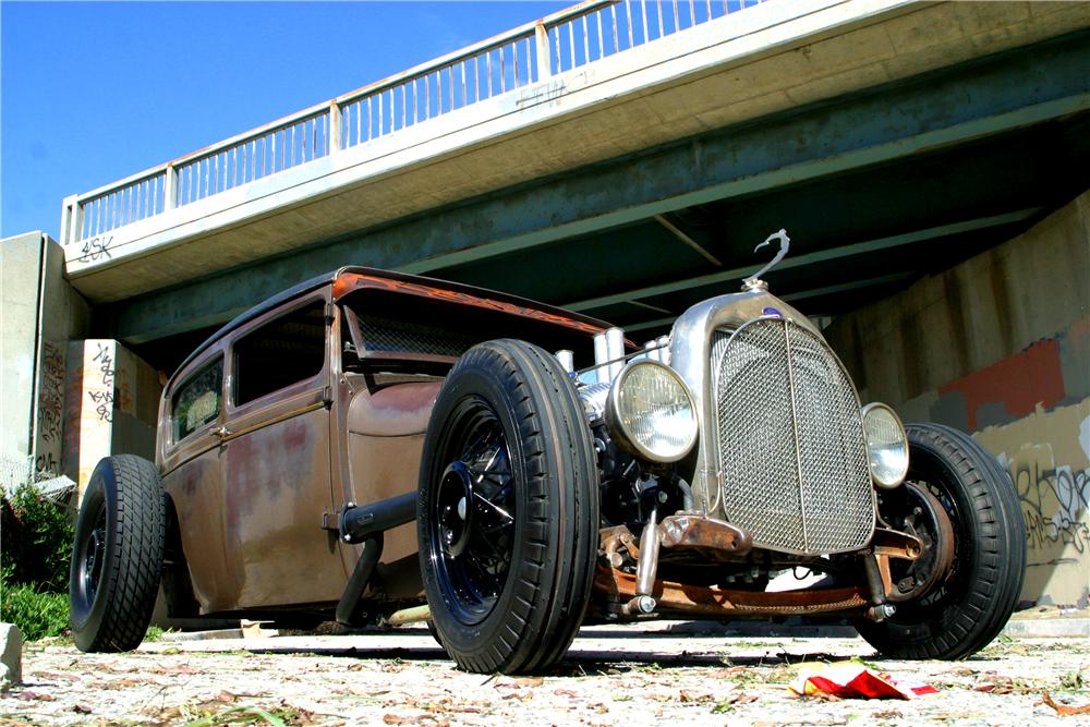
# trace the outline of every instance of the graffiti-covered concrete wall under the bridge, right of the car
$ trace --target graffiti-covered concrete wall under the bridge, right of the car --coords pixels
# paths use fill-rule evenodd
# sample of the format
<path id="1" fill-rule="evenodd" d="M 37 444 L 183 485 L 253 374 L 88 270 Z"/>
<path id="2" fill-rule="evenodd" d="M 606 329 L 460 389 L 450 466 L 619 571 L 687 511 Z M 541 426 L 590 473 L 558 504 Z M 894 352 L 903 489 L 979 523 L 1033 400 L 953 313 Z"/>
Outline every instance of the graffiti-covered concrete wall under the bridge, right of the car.
<path id="1" fill-rule="evenodd" d="M 864 401 L 973 433 L 1022 502 L 1025 601 L 1090 602 L 1090 192 L 825 331 Z"/>

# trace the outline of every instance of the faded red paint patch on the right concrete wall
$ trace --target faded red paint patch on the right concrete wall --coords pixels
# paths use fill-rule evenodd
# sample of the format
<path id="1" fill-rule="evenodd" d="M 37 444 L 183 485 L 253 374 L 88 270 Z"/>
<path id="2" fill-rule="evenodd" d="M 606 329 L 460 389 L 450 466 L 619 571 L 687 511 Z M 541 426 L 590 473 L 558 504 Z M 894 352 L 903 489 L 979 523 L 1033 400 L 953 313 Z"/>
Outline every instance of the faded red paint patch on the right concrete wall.
<path id="1" fill-rule="evenodd" d="M 1039 341 L 938 389 L 940 397 L 950 395 L 964 397 L 970 432 L 1003 423 L 989 416 L 990 404 L 1002 407 L 1006 421 L 1032 414 L 1038 404 L 1050 409 L 1064 399 L 1059 344 L 1055 339 Z"/>

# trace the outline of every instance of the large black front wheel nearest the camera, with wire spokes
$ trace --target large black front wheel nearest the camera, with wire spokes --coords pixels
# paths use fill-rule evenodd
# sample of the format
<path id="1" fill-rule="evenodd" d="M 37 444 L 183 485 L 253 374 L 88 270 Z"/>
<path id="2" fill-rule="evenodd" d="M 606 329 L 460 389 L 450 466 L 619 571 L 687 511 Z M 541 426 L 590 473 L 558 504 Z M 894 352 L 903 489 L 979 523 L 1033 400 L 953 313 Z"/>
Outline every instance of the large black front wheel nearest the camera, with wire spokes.
<path id="1" fill-rule="evenodd" d="M 598 494 L 583 409 L 556 359 L 498 340 L 459 360 L 432 412 L 416 512 L 450 657 L 482 674 L 560 661 L 591 593 Z"/>

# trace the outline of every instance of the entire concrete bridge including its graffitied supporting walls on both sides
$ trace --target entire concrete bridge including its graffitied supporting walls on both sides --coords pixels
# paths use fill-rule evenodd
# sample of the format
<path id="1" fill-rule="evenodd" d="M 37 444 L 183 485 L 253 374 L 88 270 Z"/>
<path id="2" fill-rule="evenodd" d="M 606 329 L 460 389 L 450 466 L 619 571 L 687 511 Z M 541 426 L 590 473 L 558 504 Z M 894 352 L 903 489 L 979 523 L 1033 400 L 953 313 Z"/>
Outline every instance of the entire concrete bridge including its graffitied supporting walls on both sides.
<path id="1" fill-rule="evenodd" d="M 344 264 L 642 340 L 737 290 L 786 227 L 773 291 L 864 398 L 977 432 L 1021 483 L 1026 597 L 1086 602 L 1088 170 L 1086 2 L 592 0 L 74 195 L 60 246 L 5 241 L 4 317 L 31 331 L 5 411 L 31 412 L 11 426 L 39 469 L 140 449 L 155 369 Z M 9 271 L 32 268 L 24 312 Z M 102 404 L 64 390 L 97 390 L 102 355 L 145 393 L 111 378 L 112 434 L 88 444 Z"/>

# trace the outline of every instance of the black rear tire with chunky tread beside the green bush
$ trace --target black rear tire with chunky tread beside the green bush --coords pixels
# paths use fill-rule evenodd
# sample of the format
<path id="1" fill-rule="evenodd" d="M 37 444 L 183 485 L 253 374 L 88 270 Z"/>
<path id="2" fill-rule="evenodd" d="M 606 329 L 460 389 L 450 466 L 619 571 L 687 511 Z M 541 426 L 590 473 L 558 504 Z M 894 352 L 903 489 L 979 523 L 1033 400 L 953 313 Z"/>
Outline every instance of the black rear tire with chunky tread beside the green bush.
<path id="1" fill-rule="evenodd" d="M 162 578 L 166 509 L 155 465 L 131 455 L 95 468 L 75 525 L 72 635 L 84 652 L 136 649 Z"/>

